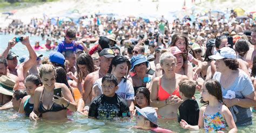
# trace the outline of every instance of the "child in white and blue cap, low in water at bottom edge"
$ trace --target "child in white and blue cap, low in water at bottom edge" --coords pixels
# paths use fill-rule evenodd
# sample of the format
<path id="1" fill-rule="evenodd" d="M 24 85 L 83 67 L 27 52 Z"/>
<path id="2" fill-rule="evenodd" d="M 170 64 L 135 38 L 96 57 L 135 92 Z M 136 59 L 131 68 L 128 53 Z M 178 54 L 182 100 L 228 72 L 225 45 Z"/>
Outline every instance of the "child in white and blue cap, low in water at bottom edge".
<path id="1" fill-rule="evenodd" d="M 168 129 L 159 128 L 157 125 L 157 112 L 156 109 L 152 107 L 138 108 L 136 117 L 136 128 L 141 128 L 145 130 L 152 130 L 155 132 L 172 132 Z"/>

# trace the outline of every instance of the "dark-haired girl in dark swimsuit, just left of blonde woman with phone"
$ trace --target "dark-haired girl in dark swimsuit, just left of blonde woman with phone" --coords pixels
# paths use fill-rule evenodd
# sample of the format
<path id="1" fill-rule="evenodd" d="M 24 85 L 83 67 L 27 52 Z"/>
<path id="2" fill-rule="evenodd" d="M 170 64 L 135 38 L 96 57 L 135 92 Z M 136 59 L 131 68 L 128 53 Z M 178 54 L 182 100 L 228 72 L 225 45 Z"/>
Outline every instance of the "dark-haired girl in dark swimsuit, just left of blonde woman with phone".
<path id="1" fill-rule="evenodd" d="M 29 75 L 25 79 L 25 87 L 26 87 L 26 95 L 22 101 L 21 106 L 19 107 L 19 113 L 25 113 L 26 116 L 29 116 L 29 114 L 33 110 L 34 105 L 34 93 L 37 87 L 42 86 L 42 82 L 38 75 Z"/>

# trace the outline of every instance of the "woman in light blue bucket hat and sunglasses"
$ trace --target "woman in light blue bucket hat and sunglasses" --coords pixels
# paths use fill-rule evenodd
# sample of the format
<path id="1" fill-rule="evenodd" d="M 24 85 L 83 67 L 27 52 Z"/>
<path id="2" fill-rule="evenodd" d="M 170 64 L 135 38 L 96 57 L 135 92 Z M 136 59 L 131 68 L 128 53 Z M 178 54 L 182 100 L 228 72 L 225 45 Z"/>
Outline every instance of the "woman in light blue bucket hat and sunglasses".
<path id="1" fill-rule="evenodd" d="M 137 55 L 132 56 L 131 64 L 132 67 L 130 71 L 134 72 L 131 77 L 134 92 L 136 92 L 139 87 L 146 87 L 149 89 L 151 76 L 146 73 L 147 67 L 149 67 L 149 61 L 147 61 L 143 55 Z"/>

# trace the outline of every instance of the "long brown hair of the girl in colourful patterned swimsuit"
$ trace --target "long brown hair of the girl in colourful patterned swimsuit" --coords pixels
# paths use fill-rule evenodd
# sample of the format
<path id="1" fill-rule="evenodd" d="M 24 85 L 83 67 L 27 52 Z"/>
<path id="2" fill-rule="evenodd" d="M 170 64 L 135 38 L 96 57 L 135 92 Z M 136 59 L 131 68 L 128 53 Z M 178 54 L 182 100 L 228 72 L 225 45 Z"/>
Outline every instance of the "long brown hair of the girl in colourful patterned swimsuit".
<path id="1" fill-rule="evenodd" d="M 215 79 L 208 79 L 205 80 L 204 84 L 205 88 L 207 89 L 208 93 L 216 97 L 220 102 L 223 103 L 223 96 L 221 91 L 220 83 Z M 208 104 L 208 102 L 207 102 Z"/>

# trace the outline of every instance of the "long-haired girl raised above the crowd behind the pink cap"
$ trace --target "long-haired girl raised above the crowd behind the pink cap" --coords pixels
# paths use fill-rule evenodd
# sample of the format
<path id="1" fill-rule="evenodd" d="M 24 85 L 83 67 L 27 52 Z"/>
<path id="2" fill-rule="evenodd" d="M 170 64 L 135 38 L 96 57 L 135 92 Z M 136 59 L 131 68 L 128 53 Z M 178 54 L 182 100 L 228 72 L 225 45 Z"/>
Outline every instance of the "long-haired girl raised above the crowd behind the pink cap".
<path id="1" fill-rule="evenodd" d="M 190 61 L 196 65 L 198 65 L 198 67 L 195 67 L 193 69 L 193 71 L 195 72 L 195 76 L 198 77 L 201 69 L 202 69 L 202 64 L 199 60 L 197 60 L 196 58 L 193 57 L 193 55 L 191 55 L 190 53 L 188 53 L 188 40 L 186 38 L 186 36 L 183 36 L 181 34 L 174 34 L 172 36 L 172 42 L 171 42 L 171 46 L 177 46 L 181 51 L 183 51 L 183 60 L 184 62 L 184 71 L 185 71 L 185 75 L 188 76 L 189 79 L 193 79 L 193 74 L 189 71 L 189 67 L 191 66 L 190 64 L 188 64 L 187 61 Z"/>

